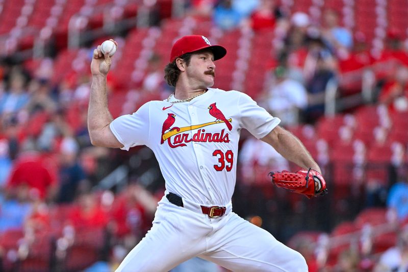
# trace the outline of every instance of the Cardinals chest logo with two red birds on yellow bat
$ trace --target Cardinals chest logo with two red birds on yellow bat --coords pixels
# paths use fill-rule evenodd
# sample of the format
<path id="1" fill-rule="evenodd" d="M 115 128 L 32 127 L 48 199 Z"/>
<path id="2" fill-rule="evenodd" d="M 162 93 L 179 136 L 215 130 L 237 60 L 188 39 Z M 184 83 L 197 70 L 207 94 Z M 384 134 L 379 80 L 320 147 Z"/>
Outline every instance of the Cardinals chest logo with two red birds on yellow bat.
<path id="1" fill-rule="evenodd" d="M 167 119 L 163 122 L 162 137 L 160 144 L 163 144 L 166 140 L 171 148 L 186 146 L 188 142 L 230 142 L 230 136 L 222 129 L 220 132 L 212 133 L 206 132 L 203 127 L 215 125 L 217 123 L 225 123 L 228 130 L 232 130 L 231 125 L 232 118 L 225 118 L 225 115 L 217 108 L 216 103 L 211 104 L 208 109 L 211 116 L 215 117 L 215 121 L 201 123 L 200 125 L 193 125 L 188 127 L 172 127 L 175 122 L 176 115 L 174 113 L 168 113 Z M 183 133 L 187 131 L 197 130 L 192 136 L 189 133 Z M 174 136 L 174 137 L 173 137 Z M 173 139 L 171 139 L 173 137 Z"/>

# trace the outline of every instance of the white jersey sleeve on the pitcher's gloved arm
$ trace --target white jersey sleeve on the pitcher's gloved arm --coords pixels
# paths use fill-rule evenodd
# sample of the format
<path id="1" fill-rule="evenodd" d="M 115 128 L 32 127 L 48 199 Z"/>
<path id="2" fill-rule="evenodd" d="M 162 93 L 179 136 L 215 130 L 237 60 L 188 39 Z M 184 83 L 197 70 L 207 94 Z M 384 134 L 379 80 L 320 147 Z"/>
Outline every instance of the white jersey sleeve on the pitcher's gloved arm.
<path id="1" fill-rule="evenodd" d="M 279 125 L 281 119 L 270 115 L 247 94 L 240 94 L 238 109 L 241 116 L 241 128 L 248 130 L 253 136 L 261 139 Z"/>

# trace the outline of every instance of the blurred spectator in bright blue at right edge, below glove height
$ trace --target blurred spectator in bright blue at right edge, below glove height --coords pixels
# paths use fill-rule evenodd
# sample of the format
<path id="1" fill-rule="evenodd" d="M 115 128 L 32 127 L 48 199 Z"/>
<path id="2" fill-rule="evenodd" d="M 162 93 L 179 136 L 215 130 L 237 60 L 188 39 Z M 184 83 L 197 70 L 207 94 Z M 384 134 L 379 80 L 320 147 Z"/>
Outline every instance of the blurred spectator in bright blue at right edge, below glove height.
<path id="1" fill-rule="evenodd" d="M 398 182 L 391 186 L 387 207 L 393 211 L 400 222 L 408 220 L 408 177 L 406 174 L 398 175 Z"/>

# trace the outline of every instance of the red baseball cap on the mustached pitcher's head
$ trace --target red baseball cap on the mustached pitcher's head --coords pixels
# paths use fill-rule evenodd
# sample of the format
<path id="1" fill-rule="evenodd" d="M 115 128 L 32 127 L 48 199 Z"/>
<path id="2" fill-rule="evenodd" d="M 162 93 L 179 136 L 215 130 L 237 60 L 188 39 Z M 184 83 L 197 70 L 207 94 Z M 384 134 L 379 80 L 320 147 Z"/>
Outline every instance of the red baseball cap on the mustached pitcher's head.
<path id="1" fill-rule="evenodd" d="M 214 60 L 226 55 L 226 49 L 221 45 L 211 45 L 210 41 L 201 35 L 188 35 L 178 39 L 171 48 L 170 62 L 176 58 L 201 49 L 209 48 L 214 54 Z"/>

